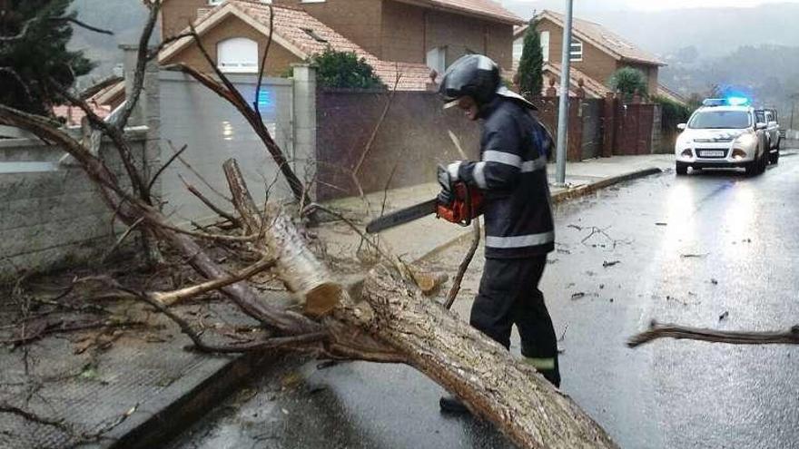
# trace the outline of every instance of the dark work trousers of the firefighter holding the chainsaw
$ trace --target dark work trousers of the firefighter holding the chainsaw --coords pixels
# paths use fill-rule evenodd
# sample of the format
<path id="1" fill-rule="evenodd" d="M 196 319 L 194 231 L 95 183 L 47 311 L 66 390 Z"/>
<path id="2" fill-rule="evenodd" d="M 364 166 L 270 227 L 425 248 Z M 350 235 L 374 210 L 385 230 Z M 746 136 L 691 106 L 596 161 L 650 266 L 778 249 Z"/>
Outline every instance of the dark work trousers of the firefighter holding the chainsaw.
<path id="1" fill-rule="evenodd" d="M 554 386 L 560 386 L 555 328 L 544 304 L 544 294 L 538 289 L 546 265 L 547 255 L 486 259 L 469 322 L 508 349 L 510 328 L 516 324 L 522 356 L 547 360 L 550 366 L 537 368 L 538 372 Z"/>

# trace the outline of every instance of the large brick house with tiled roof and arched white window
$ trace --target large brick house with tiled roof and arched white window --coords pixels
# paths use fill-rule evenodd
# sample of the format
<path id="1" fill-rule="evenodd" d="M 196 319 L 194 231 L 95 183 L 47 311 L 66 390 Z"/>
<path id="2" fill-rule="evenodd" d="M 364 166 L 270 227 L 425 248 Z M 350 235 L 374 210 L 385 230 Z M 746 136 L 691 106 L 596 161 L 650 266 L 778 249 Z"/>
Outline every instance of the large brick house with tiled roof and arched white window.
<path id="1" fill-rule="evenodd" d="M 236 17 L 214 22 L 208 48 L 217 47 L 224 64 L 228 64 L 224 60 L 228 54 L 250 51 L 246 47 L 253 44 L 243 39 L 263 42 L 269 28 L 268 20 L 263 20 L 268 18 L 268 3 L 281 8 L 276 15 L 291 18 L 291 23 L 275 20 L 276 31 L 310 33 L 313 37 L 323 34 L 315 31 L 323 27 L 324 33 L 335 33 L 349 43 L 339 40 L 316 46 L 331 44 L 337 50 L 358 47 L 376 61 L 425 64 L 438 73 L 468 53 L 487 54 L 510 68 L 514 25 L 523 24 L 493 0 L 167 0 L 163 3 L 162 35 L 181 33 L 198 19 L 216 14 L 225 3 L 234 4 L 252 20 Z M 199 31 L 199 24 L 195 25 Z M 221 44 L 236 38 L 238 41 Z M 291 53 L 285 47 L 275 50 L 269 65 L 274 67 L 272 71 L 284 71 L 294 59 Z M 296 56 L 299 52 L 293 53 Z M 247 63 L 251 63 L 248 67 L 252 71 L 257 69 L 252 61 Z"/>

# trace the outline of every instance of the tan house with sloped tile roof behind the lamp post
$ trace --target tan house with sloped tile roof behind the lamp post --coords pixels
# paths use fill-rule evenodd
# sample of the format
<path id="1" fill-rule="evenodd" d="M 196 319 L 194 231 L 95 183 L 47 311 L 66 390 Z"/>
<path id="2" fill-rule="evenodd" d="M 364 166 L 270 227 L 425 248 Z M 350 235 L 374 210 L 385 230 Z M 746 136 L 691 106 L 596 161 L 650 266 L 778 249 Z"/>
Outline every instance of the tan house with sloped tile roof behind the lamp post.
<path id="1" fill-rule="evenodd" d="M 559 79 L 563 52 L 564 17 L 545 10 L 536 15 L 536 19 L 541 36 L 545 78 L 553 76 Z M 520 26 L 514 33 L 514 61 L 518 62 L 518 59 L 521 58 L 524 34 L 527 28 L 527 25 Z M 614 34 L 601 24 L 575 18 L 569 54 L 573 70 L 571 73 L 572 85 L 577 85 L 579 80 L 583 79 L 585 84 L 590 83 L 593 86 L 604 87 L 604 89 L 595 89 L 597 93 L 606 93 L 613 73 L 622 67 L 633 67 L 646 75 L 648 94 L 662 94 L 665 89 L 658 83 L 658 72 L 660 67 L 665 66 L 666 63 L 626 41 L 623 37 Z M 544 84 L 546 88 L 546 79 Z M 559 88 L 559 86 L 557 87 Z"/>

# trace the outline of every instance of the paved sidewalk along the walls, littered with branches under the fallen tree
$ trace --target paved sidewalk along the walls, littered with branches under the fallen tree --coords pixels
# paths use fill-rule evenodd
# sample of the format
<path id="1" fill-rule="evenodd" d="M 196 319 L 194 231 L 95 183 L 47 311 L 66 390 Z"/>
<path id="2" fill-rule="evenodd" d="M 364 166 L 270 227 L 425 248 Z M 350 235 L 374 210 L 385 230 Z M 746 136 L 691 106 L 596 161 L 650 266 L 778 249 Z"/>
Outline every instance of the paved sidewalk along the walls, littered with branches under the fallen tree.
<path id="1" fill-rule="evenodd" d="M 568 187 L 553 188 L 553 200 L 575 198 L 612 183 L 670 168 L 672 158 L 616 157 L 569 164 Z M 548 170 L 554 176 L 555 168 L 550 166 Z M 383 204 L 386 211 L 397 210 L 433 198 L 438 192 L 439 186 L 431 183 L 370 194 L 366 198 L 369 213 L 367 203 L 360 198 L 336 200 L 328 206 L 340 210 L 363 229 L 370 218 L 380 216 Z M 374 254 L 363 250 L 366 247 L 361 245 L 360 236 L 340 220 L 323 223 L 311 233 L 319 237 L 313 244 L 321 257 L 344 278 L 361 276 L 375 259 Z M 408 262 L 466 238 L 469 229 L 434 217 L 380 234 L 381 243 Z M 323 246 L 319 245 L 321 242 Z M 359 258 L 362 263 L 353 262 Z M 118 273 L 125 272 L 123 266 L 114 268 Z M 129 281 L 137 280 L 135 274 L 127 276 Z M 80 292 L 74 298 L 60 296 L 71 278 L 70 273 L 64 273 L 37 279 L 34 287 L 38 291 L 29 293 L 40 299 L 72 300 L 74 306 L 83 304 Z M 147 282 L 142 275 L 137 285 Z M 288 300 L 285 292 L 276 291 L 280 288 L 264 290 L 269 290 L 264 295 L 269 295 L 272 302 Z M 96 292 L 84 296 L 92 294 Z M 79 447 L 157 447 L 165 437 L 181 432 L 218 405 L 248 378 L 258 376 L 259 367 L 273 360 L 272 354 L 207 356 L 188 352 L 183 347 L 190 343 L 189 339 L 163 317 L 153 317 L 145 308 L 133 304 L 102 305 L 113 309 L 113 316 L 108 319 L 146 324 L 114 328 L 111 333 L 93 329 L 44 337 L 28 346 L 27 352 L 24 347 L 0 345 L 0 366 L 4 366 L 0 370 L 0 447 L 64 447 L 81 440 L 88 441 Z M 0 300 L 0 322 L 13 322 L 16 307 L 14 301 Z M 34 311 L 42 313 L 41 308 Z M 220 336 L 248 338 L 252 336 L 250 327 L 255 324 L 227 301 L 197 301 L 180 307 L 180 313 L 194 327 L 207 329 L 204 335 L 212 340 Z M 66 318 L 69 317 L 64 315 Z M 12 330 L 0 327 L 0 340 L 12 337 Z M 25 372 L 25 359 L 33 376 Z M 49 423 L 36 423 L 9 412 L 8 405 L 35 413 Z"/>

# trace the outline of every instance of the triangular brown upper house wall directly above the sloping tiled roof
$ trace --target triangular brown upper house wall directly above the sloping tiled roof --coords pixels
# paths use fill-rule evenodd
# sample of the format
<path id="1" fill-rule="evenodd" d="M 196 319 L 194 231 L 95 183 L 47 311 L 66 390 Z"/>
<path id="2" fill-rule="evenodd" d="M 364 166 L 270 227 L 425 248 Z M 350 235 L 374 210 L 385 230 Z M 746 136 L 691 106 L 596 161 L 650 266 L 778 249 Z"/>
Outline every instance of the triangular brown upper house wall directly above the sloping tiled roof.
<path id="1" fill-rule="evenodd" d="M 382 3 L 380 0 L 327 0 L 303 3 L 301 0 L 274 0 L 275 5 L 299 7 L 330 26 L 337 33 L 359 44 L 379 59 L 382 55 Z"/>

